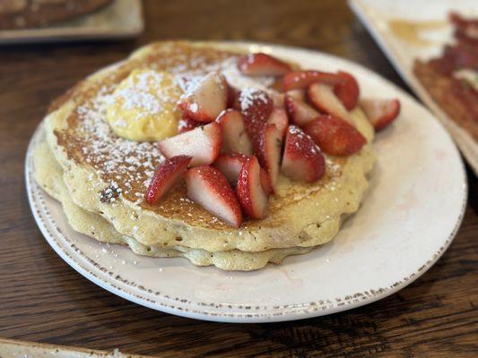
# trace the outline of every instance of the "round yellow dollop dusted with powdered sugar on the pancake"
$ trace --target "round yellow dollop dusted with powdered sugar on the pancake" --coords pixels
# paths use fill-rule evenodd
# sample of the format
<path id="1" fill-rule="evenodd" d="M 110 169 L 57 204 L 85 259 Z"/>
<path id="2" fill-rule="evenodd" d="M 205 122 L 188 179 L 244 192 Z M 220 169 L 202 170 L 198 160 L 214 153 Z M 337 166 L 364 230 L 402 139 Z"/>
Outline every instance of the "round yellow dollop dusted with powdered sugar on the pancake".
<path id="1" fill-rule="evenodd" d="M 177 102 L 182 94 L 169 72 L 134 70 L 108 100 L 108 123 L 127 140 L 161 141 L 178 132 Z"/>

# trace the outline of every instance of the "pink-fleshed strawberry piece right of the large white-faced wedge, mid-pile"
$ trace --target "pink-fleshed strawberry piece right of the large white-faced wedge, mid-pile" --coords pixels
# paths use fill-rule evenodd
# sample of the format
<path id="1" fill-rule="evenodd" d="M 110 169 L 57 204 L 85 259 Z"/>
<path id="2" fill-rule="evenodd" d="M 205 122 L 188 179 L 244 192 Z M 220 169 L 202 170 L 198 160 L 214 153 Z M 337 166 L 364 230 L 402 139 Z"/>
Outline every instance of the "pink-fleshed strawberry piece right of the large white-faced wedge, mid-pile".
<path id="1" fill-rule="evenodd" d="M 222 129 L 222 150 L 224 153 L 252 154 L 252 143 L 244 125 L 244 117 L 235 109 L 226 109 L 216 122 Z"/>

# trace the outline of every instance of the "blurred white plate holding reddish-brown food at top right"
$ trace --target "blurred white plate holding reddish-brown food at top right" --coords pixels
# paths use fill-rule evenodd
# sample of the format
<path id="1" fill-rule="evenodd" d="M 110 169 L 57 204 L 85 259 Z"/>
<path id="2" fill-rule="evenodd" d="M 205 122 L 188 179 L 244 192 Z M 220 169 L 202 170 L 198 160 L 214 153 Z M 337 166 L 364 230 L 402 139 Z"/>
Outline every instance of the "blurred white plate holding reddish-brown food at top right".
<path id="1" fill-rule="evenodd" d="M 441 110 L 413 73 L 413 61 L 416 58 L 426 60 L 436 57 L 441 54 L 445 44 L 453 42 L 453 29 L 448 22 L 448 13 L 455 11 L 465 16 L 478 17 L 478 1 L 349 0 L 349 4 L 395 66 L 395 70 L 447 128 L 466 161 L 472 166 L 474 174 L 478 175 L 478 142 Z M 389 21 L 394 19 L 413 22 L 437 21 L 442 22 L 442 25 L 421 30 L 419 37 L 425 41 L 417 44 L 398 37 L 390 29 Z"/>

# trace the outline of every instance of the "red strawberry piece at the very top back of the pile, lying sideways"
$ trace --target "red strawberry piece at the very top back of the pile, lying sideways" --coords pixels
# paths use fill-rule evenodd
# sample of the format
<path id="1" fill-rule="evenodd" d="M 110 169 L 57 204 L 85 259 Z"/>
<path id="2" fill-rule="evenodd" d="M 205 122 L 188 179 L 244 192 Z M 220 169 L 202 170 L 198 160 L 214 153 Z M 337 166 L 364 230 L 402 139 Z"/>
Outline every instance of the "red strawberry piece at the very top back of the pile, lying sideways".
<path id="1" fill-rule="evenodd" d="M 248 76 L 282 76 L 291 72 L 291 65 L 262 53 L 244 55 L 238 60 L 239 71 Z"/>

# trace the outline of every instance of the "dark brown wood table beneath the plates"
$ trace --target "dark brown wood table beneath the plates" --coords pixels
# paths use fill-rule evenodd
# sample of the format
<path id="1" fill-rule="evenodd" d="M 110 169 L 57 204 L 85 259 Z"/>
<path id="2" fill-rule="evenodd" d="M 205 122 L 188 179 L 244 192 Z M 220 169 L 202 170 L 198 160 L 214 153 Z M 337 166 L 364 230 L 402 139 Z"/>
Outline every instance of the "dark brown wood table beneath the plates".
<path id="1" fill-rule="evenodd" d="M 409 90 L 343 1 L 150 0 L 144 14 L 135 40 L 0 47 L 0 337 L 171 357 L 478 356 L 478 194 L 469 169 L 463 225 L 433 268 L 378 303 L 317 319 L 239 325 L 171 316 L 109 294 L 56 255 L 25 192 L 30 136 L 53 98 L 136 47 L 169 38 L 307 47 Z"/>

